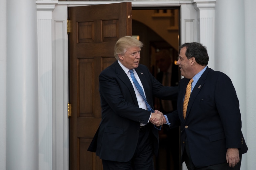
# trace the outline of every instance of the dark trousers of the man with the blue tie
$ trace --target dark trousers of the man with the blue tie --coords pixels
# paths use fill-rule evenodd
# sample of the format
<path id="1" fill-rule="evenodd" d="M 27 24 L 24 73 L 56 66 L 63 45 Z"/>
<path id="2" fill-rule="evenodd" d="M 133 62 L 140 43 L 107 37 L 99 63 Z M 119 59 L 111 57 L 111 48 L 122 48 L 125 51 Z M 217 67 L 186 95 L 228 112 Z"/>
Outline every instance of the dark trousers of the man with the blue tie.
<path id="1" fill-rule="evenodd" d="M 104 170 L 154 170 L 153 139 L 151 129 L 140 128 L 139 140 L 132 159 L 128 162 L 102 160 Z M 132 137 L 132 136 L 131 136 Z M 123 153 L 125 154 L 125 153 Z"/>

